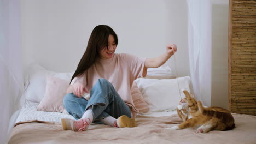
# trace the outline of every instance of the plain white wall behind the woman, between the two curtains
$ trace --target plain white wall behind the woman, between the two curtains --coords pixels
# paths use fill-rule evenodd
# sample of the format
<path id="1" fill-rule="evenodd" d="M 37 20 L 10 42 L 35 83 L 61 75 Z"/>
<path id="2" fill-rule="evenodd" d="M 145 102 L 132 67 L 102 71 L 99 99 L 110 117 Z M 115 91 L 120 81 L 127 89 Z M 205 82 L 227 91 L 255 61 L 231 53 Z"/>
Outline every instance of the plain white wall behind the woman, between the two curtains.
<path id="1" fill-rule="evenodd" d="M 21 2 L 22 64 L 74 71 L 92 29 L 109 25 L 118 34 L 117 53 L 156 57 L 177 44 L 178 76 L 189 75 L 187 3 L 182 1 Z M 173 59 L 173 58 L 172 58 Z M 173 61 L 173 60 L 172 60 Z M 168 61 L 174 69 L 174 63 Z"/>

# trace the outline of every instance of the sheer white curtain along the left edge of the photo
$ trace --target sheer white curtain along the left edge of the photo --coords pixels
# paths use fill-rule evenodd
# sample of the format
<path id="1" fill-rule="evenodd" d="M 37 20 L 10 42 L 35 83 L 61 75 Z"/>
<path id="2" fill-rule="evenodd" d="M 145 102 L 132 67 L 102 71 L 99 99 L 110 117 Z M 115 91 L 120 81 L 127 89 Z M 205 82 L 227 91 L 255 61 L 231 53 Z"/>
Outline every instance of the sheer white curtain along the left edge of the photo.
<path id="1" fill-rule="evenodd" d="M 0 143 L 7 143 L 11 116 L 21 107 L 21 64 L 20 1 L 0 0 Z"/>

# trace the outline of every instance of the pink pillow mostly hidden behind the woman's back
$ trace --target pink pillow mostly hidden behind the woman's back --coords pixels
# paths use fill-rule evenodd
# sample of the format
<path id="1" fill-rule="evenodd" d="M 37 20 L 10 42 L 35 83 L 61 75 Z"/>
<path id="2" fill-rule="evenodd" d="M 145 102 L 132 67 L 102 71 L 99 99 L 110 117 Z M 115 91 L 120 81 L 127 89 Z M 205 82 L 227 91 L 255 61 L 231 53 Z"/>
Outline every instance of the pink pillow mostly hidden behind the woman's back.
<path id="1" fill-rule="evenodd" d="M 133 103 L 135 105 L 135 108 L 139 112 L 148 112 L 149 105 L 146 103 L 146 101 L 142 97 L 142 94 L 139 91 L 139 88 L 138 88 L 136 82 L 133 82 L 133 84 L 132 84 L 131 94 L 132 94 L 132 99 L 133 99 Z"/>

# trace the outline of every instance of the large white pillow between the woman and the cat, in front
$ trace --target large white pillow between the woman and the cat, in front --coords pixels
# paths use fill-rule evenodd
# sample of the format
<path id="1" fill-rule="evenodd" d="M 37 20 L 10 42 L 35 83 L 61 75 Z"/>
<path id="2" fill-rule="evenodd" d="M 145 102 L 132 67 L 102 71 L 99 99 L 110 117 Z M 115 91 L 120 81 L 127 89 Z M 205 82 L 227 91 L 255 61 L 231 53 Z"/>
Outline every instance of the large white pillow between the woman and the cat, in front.
<path id="1" fill-rule="evenodd" d="M 178 80 L 178 81 L 177 81 Z M 146 103 L 149 105 L 149 112 L 175 110 L 181 97 L 185 95 L 180 89 L 184 88 L 190 92 L 190 77 L 179 77 L 178 79 L 137 79 L 139 91 L 141 91 Z M 179 83 L 179 87 L 178 87 Z"/>

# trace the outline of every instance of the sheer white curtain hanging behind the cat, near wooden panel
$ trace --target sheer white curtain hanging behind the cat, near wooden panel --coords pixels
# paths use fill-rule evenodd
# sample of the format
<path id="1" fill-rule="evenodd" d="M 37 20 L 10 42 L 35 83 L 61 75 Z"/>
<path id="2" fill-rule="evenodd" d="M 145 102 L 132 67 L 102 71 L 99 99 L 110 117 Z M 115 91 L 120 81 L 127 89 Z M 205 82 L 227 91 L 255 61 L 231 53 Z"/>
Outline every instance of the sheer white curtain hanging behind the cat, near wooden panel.
<path id="1" fill-rule="evenodd" d="M 212 16 L 210 0 L 187 0 L 189 65 L 197 100 L 211 105 Z"/>

